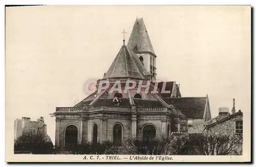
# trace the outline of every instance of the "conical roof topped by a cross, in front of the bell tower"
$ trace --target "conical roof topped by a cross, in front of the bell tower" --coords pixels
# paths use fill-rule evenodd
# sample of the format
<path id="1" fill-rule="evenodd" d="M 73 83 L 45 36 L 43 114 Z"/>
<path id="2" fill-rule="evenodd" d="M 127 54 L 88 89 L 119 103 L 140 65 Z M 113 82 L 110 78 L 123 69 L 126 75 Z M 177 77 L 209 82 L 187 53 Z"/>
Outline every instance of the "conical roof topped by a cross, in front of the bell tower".
<path id="1" fill-rule="evenodd" d="M 122 45 L 109 70 L 104 75 L 106 78 L 138 78 L 146 79 L 146 69 L 138 56 L 125 44 Z"/>

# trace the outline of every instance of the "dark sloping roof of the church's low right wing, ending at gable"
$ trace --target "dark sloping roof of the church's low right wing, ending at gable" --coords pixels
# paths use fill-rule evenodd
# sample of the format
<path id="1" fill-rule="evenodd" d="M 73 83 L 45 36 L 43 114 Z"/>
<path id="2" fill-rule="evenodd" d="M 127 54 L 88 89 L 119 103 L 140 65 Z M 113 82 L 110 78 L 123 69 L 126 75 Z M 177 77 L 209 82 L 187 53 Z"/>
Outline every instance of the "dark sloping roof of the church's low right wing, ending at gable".
<path id="1" fill-rule="evenodd" d="M 163 98 L 163 100 L 181 110 L 187 118 L 203 119 L 207 97 Z"/>

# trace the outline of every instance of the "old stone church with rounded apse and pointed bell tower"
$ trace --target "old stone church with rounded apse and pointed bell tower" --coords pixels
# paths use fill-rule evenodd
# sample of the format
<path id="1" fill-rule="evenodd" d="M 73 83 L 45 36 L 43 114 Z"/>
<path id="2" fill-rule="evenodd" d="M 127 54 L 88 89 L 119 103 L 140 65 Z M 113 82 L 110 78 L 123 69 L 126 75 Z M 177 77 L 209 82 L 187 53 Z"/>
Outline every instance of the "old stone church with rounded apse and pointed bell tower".
<path id="1" fill-rule="evenodd" d="M 169 137 L 211 120 L 207 95 L 182 97 L 175 81 L 156 81 L 157 56 L 143 18 L 136 18 L 127 45 L 123 40 L 113 59 L 97 81 L 100 91 L 73 107 L 56 107 L 55 147 L 127 137 Z M 104 81 L 109 86 L 99 89 Z M 136 84 L 124 91 L 127 81 Z M 121 91 L 112 89 L 117 82 Z"/>

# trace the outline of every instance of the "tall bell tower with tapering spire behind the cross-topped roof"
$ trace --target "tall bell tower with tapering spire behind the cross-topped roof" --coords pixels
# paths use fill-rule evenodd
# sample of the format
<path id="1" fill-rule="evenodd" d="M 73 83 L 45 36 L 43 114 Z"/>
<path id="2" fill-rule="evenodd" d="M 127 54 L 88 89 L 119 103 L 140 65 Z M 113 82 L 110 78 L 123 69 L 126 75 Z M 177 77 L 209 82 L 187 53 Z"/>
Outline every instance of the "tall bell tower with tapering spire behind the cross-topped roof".
<path id="1" fill-rule="evenodd" d="M 156 55 L 148 36 L 143 18 L 136 18 L 127 44 L 139 57 L 145 69 L 151 74 L 151 81 L 156 81 Z"/>

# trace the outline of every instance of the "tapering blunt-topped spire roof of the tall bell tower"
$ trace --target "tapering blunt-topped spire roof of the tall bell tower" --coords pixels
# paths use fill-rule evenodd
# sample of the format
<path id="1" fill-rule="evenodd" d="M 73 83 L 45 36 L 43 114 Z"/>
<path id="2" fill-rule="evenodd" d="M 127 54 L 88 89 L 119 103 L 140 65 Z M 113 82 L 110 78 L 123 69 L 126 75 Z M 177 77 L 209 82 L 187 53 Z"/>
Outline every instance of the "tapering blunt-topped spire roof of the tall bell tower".
<path id="1" fill-rule="evenodd" d="M 136 18 L 127 47 L 135 53 L 151 52 L 155 55 L 143 18 Z"/>

